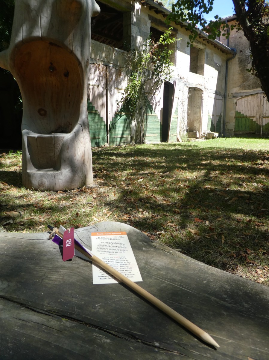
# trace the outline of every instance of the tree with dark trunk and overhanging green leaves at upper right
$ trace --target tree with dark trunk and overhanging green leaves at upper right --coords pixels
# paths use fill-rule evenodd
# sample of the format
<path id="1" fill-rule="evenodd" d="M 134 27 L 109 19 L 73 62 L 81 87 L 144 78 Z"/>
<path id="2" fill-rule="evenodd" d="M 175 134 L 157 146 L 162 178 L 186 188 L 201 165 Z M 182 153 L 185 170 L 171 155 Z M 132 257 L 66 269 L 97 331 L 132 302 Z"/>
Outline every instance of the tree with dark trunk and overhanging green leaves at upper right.
<path id="1" fill-rule="evenodd" d="M 208 33 L 208 38 L 215 40 L 222 35 L 229 37 L 229 30 L 243 30 L 250 43 L 252 53 L 251 74 L 259 77 L 261 87 L 269 99 L 269 1 L 268 0 L 233 0 L 237 23 L 230 29 L 218 15 L 215 21 L 207 23 L 204 15 L 213 9 L 214 0 L 178 0 L 172 6 L 172 13 L 167 22 L 185 22 L 190 30 L 188 45 L 192 45 L 201 31 Z"/>

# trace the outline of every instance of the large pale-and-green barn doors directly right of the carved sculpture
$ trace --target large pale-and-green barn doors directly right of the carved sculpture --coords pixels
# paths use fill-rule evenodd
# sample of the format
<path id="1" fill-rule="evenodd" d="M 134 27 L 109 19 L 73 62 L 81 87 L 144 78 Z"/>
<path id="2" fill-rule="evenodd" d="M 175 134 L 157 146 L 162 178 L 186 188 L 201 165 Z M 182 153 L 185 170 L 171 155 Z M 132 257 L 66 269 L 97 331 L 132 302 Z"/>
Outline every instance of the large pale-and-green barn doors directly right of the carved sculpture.
<path id="1" fill-rule="evenodd" d="M 126 76 L 119 69 L 90 65 L 88 118 L 92 146 L 131 142 L 130 114 L 117 105 L 126 84 Z"/>

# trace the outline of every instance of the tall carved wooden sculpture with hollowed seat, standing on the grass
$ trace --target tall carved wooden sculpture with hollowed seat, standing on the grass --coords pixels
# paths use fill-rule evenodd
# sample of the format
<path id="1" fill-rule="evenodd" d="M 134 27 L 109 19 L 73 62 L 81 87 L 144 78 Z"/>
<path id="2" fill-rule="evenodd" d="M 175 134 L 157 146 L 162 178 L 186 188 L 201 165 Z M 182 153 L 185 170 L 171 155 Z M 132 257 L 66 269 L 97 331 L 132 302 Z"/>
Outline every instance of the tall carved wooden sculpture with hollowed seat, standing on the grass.
<path id="1" fill-rule="evenodd" d="M 62 190 L 91 184 L 87 113 L 94 0 L 15 0 L 0 66 L 23 99 L 23 185 Z"/>

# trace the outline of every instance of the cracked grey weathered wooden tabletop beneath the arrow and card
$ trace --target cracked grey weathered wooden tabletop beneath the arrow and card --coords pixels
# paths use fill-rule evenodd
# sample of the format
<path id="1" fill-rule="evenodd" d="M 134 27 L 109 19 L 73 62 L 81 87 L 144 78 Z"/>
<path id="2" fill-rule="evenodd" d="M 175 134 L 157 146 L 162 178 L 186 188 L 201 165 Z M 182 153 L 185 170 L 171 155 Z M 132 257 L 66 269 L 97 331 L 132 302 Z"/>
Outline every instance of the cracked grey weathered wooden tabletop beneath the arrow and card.
<path id="1" fill-rule="evenodd" d="M 47 233 L 0 233 L 1 359 L 269 359 L 269 289 L 126 231 L 139 285 L 208 332 L 215 350 L 122 284 L 92 284 L 91 262 L 62 261 Z"/>

